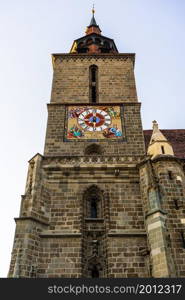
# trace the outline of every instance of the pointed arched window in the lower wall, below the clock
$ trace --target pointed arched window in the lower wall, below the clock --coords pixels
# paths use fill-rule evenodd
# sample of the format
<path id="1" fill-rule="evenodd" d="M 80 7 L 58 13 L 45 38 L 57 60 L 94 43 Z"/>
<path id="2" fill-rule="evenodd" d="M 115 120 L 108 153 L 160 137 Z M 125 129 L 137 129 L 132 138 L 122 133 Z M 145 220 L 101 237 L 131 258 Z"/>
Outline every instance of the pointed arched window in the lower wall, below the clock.
<path id="1" fill-rule="evenodd" d="M 85 192 L 85 218 L 102 218 L 102 193 L 100 189 L 93 185 Z"/>

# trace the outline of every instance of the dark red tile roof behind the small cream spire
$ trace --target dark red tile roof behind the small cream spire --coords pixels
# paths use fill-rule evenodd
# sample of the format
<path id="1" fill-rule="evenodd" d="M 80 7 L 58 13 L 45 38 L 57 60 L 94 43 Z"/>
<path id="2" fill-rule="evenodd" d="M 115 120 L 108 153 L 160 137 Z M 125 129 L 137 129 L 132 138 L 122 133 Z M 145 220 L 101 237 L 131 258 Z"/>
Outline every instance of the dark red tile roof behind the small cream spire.
<path id="1" fill-rule="evenodd" d="M 160 129 L 171 143 L 175 156 L 185 158 L 185 129 Z M 150 142 L 152 130 L 143 130 L 146 150 Z"/>

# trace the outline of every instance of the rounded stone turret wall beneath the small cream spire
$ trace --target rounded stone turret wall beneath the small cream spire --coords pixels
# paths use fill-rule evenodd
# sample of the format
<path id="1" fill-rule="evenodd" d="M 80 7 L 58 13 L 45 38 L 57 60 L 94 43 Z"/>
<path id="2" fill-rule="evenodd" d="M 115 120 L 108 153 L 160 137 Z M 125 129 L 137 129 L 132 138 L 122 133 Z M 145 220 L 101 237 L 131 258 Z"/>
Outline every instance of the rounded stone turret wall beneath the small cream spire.
<path id="1" fill-rule="evenodd" d="M 171 248 L 177 277 L 185 277 L 185 176 L 182 164 L 175 160 L 155 163 L 162 208 L 167 213 L 167 243 Z M 169 173 L 171 172 L 171 173 Z"/>

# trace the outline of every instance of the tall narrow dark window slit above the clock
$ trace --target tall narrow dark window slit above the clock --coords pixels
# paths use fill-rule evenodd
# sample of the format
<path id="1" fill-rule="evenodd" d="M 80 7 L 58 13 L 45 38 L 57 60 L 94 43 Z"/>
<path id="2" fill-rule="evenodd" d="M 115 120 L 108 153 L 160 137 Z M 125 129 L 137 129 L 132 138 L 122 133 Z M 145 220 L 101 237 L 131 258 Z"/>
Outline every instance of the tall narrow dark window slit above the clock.
<path id="1" fill-rule="evenodd" d="M 98 102 L 98 67 L 89 67 L 89 98 L 91 103 Z"/>

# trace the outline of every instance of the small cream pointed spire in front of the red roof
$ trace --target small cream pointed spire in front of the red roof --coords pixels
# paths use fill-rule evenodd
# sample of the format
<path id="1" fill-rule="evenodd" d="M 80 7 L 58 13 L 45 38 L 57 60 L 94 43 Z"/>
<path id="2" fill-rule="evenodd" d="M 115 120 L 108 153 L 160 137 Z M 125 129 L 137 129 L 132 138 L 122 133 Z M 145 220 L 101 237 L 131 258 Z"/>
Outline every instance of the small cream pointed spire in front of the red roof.
<path id="1" fill-rule="evenodd" d="M 159 129 L 157 121 L 153 121 L 153 132 L 148 146 L 147 154 L 152 158 L 157 155 L 174 155 L 172 145 Z"/>

